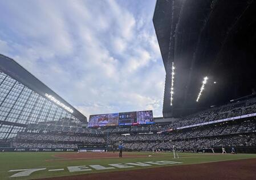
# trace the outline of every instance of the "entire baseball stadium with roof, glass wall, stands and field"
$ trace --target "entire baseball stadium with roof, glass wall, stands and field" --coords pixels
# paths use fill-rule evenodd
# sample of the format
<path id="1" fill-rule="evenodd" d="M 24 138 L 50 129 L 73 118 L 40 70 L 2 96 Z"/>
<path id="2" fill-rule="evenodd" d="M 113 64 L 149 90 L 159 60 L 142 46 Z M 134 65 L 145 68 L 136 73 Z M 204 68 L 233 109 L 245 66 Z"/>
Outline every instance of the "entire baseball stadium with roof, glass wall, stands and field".
<path id="1" fill-rule="evenodd" d="M 86 117 L 0 51 L 0 179 L 256 179 L 256 2 L 157 0 L 152 14 L 162 117 Z"/>

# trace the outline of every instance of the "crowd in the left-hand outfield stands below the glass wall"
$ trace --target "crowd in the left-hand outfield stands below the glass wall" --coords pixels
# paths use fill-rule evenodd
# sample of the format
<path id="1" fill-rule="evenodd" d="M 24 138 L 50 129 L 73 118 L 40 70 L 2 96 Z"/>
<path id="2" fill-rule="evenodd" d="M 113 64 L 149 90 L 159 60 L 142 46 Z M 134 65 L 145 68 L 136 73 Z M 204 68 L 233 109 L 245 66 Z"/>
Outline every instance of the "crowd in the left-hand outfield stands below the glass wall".
<path id="1" fill-rule="evenodd" d="M 78 148 L 78 144 L 105 144 L 99 129 L 82 128 L 79 121 L 59 121 L 30 124 L 26 132 L 18 132 L 13 140 L 14 148 Z"/>

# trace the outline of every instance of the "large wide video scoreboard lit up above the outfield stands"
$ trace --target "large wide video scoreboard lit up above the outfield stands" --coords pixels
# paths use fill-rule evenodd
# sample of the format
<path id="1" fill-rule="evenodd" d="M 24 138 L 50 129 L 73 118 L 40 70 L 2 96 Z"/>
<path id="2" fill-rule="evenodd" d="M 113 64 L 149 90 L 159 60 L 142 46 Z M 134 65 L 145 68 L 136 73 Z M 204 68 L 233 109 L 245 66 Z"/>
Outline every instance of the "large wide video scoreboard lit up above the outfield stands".
<path id="1" fill-rule="evenodd" d="M 152 111 L 134 111 L 111 114 L 96 114 L 89 118 L 88 127 L 153 124 Z"/>

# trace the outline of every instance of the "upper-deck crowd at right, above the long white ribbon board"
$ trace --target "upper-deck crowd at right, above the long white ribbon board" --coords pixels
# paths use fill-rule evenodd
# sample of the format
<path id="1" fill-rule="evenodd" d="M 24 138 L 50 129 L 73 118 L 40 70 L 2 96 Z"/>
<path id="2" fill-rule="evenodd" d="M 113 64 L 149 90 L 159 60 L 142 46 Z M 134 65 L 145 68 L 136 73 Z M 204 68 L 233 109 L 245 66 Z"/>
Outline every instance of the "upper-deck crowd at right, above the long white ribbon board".
<path id="1" fill-rule="evenodd" d="M 245 114 L 256 113 L 256 102 L 247 103 L 242 101 L 240 103 L 224 105 L 218 108 L 208 109 L 203 112 L 192 114 L 178 119 L 178 121 L 170 123 L 168 125 L 149 125 L 149 126 L 131 126 L 122 127 L 116 126 L 115 128 L 101 129 L 104 134 L 122 134 L 122 133 L 149 133 L 149 132 L 162 132 L 168 129 L 177 129 L 180 127 L 195 125 L 209 121 L 222 120 L 230 117 L 242 116 Z M 235 132 L 235 127 L 230 129 L 231 132 Z M 220 130 L 222 132 L 222 130 Z M 227 129 L 225 130 L 229 132 Z"/>

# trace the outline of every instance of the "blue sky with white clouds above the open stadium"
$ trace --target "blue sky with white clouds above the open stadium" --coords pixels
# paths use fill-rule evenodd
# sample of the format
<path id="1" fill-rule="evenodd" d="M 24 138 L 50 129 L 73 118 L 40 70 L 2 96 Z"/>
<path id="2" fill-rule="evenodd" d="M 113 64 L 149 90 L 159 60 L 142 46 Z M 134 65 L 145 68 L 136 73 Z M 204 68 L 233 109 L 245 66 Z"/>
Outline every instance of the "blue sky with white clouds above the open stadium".
<path id="1" fill-rule="evenodd" d="M 84 115 L 152 109 L 165 71 L 155 0 L 0 1 L 0 54 L 15 59 Z"/>

